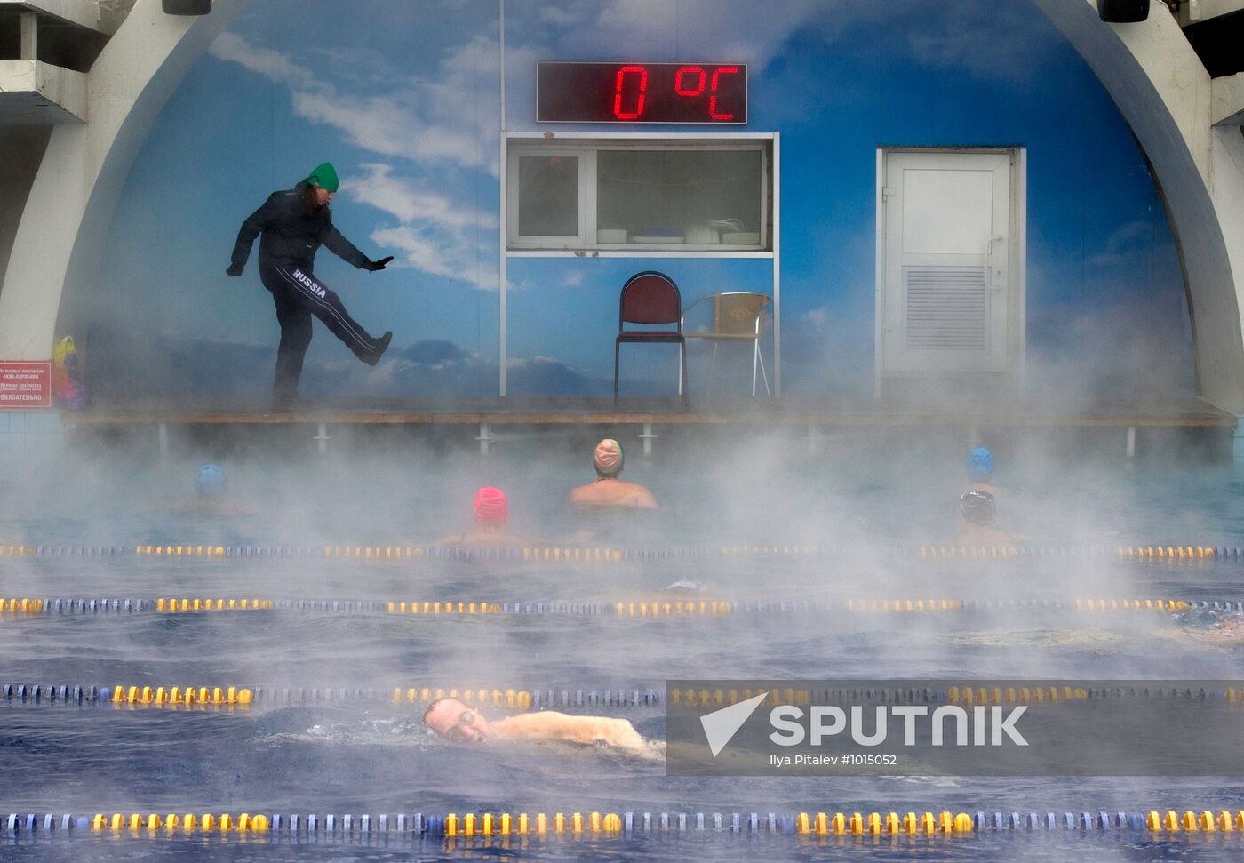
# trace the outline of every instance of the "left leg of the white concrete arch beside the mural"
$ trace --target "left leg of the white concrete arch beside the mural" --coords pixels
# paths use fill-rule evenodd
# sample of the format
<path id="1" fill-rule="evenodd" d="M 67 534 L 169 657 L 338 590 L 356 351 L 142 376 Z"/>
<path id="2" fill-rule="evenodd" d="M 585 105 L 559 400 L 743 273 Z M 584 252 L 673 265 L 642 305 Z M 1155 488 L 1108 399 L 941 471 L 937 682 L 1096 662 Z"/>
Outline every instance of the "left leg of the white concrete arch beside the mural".
<path id="1" fill-rule="evenodd" d="M 90 279 L 104 226 L 157 114 L 187 71 L 245 6 L 165 15 L 137 0 L 87 75 L 87 122 L 57 126 L 22 209 L 0 288 L 0 357 L 47 359 L 67 284 Z"/>

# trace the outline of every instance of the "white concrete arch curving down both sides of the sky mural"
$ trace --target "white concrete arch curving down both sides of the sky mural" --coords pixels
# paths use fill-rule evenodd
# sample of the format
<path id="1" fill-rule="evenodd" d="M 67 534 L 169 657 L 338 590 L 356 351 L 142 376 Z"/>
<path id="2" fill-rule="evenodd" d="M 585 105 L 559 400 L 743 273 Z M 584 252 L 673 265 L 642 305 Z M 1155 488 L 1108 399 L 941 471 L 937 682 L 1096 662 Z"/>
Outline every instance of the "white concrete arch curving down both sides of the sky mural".
<path id="1" fill-rule="evenodd" d="M 1198 390 L 1244 414 L 1239 129 L 1212 126 L 1209 76 L 1159 2 L 1144 24 L 1117 26 L 1101 22 L 1096 0 L 1033 2 L 1092 67 L 1153 165 L 1186 277 Z M 134 4 L 91 68 L 88 122 L 55 129 L 31 188 L 0 290 L 0 357 L 51 354 L 65 285 L 90 277 L 152 122 L 245 4 L 215 0 L 202 19 L 164 15 L 159 0 Z"/>

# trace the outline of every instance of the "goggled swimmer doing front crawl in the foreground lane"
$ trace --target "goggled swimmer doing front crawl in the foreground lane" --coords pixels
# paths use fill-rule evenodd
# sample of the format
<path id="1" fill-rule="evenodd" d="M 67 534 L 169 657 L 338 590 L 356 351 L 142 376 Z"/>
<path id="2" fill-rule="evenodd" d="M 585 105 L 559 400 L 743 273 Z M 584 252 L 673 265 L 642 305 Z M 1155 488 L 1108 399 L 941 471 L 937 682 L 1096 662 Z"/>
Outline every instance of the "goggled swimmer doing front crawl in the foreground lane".
<path id="1" fill-rule="evenodd" d="M 490 722 L 475 708 L 455 698 L 442 698 L 428 705 L 423 724 L 437 736 L 457 744 L 488 744 L 496 740 L 550 740 L 580 746 L 612 746 L 628 752 L 649 749 L 628 720 L 608 716 L 570 716 L 544 710 L 518 714 Z"/>

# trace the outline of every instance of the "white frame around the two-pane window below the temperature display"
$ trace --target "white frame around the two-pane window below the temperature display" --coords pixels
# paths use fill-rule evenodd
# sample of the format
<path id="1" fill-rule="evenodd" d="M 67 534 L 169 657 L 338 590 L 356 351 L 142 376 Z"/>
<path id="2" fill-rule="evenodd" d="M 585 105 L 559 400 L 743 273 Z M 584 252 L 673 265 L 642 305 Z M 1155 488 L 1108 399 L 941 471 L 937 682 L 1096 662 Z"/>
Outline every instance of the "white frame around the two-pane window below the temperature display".
<path id="1" fill-rule="evenodd" d="M 775 170 L 775 133 L 695 134 L 648 133 L 612 134 L 545 132 L 509 133 L 504 139 L 506 201 L 505 254 L 515 257 L 540 256 L 592 256 L 592 257 L 773 257 L 774 210 L 778 201 L 778 175 Z M 597 154 L 623 150 L 755 150 L 760 153 L 760 242 L 756 244 L 637 244 L 596 242 L 598 179 Z M 580 157 L 580 219 L 577 236 L 519 236 L 519 159 L 524 155 L 577 155 Z"/>

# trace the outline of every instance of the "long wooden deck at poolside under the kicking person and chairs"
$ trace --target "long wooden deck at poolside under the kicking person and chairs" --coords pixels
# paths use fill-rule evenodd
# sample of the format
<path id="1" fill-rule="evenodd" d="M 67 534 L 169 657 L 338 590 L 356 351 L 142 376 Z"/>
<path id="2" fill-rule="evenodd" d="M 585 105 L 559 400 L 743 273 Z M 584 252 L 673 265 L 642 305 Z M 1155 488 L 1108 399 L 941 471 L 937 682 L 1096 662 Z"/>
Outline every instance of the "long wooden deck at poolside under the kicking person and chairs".
<path id="1" fill-rule="evenodd" d="M 751 425 L 751 427 L 1218 427 L 1237 418 L 1198 398 L 889 402 L 878 399 L 479 398 L 323 402 L 295 413 L 236 402 L 97 404 L 68 427 L 123 425 Z"/>

